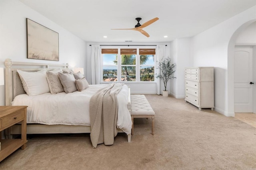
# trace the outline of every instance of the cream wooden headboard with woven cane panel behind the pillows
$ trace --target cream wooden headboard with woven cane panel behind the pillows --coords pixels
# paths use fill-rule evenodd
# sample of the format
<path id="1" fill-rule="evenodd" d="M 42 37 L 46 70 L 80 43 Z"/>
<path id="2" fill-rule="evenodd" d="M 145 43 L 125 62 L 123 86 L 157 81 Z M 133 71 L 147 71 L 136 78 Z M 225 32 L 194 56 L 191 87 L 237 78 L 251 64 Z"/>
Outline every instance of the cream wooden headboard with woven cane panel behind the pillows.
<path id="1" fill-rule="evenodd" d="M 14 97 L 20 94 L 26 94 L 20 76 L 17 70 L 36 72 L 43 69 L 55 70 L 61 68 L 68 69 L 68 64 L 45 64 L 45 63 L 24 63 L 13 62 L 11 59 L 4 61 L 5 65 L 5 106 L 11 106 Z"/>

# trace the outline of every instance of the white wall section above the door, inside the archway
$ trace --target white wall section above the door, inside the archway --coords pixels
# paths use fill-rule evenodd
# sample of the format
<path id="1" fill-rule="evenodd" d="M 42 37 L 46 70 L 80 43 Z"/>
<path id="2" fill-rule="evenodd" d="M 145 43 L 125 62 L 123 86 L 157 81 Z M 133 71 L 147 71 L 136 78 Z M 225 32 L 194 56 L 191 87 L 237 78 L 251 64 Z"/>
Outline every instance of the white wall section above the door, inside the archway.
<path id="1" fill-rule="evenodd" d="M 250 24 L 238 35 L 236 45 L 256 45 L 256 22 Z"/>

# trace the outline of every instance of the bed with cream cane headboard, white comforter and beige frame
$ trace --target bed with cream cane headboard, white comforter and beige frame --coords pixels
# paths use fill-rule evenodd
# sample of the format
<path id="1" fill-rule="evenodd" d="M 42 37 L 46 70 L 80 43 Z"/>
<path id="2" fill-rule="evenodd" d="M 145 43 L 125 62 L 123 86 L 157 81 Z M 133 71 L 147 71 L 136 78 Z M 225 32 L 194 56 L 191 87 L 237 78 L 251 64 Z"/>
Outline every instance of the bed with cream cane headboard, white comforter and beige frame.
<path id="1" fill-rule="evenodd" d="M 47 92 L 40 95 L 29 96 L 22 85 L 18 71 L 40 72 L 41 70 L 53 71 L 56 69 L 69 70 L 68 64 L 42 64 L 13 62 L 6 59 L 5 68 L 5 98 L 6 106 L 28 106 L 27 109 L 27 134 L 44 133 L 91 133 L 90 127 L 90 98 L 109 84 L 88 85 L 85 90 L 70 93 Z M 66 74 L 67 75 L 67 74 Z M 124 97 L 125 96 L 125 97 Z M 128 142 L 131 141 L 130 118 L 130 88 L 122 84 L 117 94 L 118 132 L 126 133 Z M 54 102 L 53 102 L 54 101 Z M 122 113 L 122 115 L 120 115 Z M 70 118 L 70 116 L 75 118 Z M 74 116 L 75 115 L 75 116 Z M 6 137 L 20 134 L 20 125 L 14 125 L 6 130 Z"/>

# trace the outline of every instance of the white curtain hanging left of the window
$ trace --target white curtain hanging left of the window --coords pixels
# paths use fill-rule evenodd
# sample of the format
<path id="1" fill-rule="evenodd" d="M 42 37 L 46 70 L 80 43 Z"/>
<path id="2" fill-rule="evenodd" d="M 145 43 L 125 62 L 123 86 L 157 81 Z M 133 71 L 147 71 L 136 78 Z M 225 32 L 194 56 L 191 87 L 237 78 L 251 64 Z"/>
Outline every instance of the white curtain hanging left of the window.
<path id="1" fill-rule="evenodd" d="M 92 84 L 100 84 L 100 45 L 92 45 Z"/>

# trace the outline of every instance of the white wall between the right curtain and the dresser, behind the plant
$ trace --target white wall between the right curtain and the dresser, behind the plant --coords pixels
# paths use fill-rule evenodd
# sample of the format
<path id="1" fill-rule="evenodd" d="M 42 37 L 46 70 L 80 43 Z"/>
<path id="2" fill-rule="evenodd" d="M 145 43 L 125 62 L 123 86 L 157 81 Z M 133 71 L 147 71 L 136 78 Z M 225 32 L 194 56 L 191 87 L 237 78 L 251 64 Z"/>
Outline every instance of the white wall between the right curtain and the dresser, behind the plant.
<path id="1" fill-rule="evenodd" d="M 171 80 L 170 92 L 178 99 L 185 98 L 184 68 L 191 66 L 190 38 L 175 39 L 170 43 L 170 57 L 176 63 L 176 79 Z"/>

